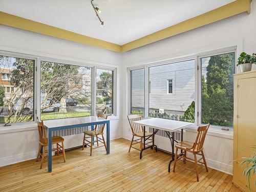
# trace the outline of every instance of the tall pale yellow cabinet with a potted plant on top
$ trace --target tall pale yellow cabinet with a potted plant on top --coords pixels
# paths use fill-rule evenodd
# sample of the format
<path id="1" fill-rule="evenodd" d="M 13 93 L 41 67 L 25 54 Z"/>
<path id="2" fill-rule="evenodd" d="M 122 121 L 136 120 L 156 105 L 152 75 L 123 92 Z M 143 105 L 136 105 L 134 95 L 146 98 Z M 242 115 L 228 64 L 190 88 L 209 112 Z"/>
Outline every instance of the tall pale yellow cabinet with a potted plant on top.
<path id="1" fill-rule="evenodd" d="M 234 139 L 233 159 L 249 157 L 250 146 L 256 145 L 256 71 L 234 75 Z M 245 165 L 233 162 L 233 183 L 249 191 L 243 175 Z M 250 191 L 256 192 L 255 175 L 251 174 Z"/>

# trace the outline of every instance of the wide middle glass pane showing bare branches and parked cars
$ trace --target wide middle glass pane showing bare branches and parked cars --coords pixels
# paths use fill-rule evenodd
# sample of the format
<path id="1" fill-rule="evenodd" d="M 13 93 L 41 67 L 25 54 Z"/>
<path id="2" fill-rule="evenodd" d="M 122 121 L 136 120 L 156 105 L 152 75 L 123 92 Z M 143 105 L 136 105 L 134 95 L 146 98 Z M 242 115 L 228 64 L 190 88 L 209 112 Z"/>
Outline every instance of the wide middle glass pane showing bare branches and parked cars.
<path id="1" fill-rule="evenodd" d="M 91 68 L 41 61 L 41 119 L 91 115 Z"/>

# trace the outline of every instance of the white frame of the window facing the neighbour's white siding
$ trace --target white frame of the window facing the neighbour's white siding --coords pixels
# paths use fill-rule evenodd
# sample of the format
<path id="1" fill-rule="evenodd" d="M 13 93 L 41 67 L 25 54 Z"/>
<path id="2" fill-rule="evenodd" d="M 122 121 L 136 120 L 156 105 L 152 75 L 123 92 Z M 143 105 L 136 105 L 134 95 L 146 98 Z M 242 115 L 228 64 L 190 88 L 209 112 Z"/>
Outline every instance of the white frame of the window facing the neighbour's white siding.
<path id="1" fill-rule="evenodd" d="M 150 94 L 150 88 L 148 87 L 150 85 L 150 79 L 149 79 L 149 70 L 150 67 L 155 67 L 155 66 L 160 66 L 160 65 L 166 65 L 166 64 L 170 64 L 170 63 L 174 63 L 174 62 L 181 62 L 181 61 L 186 61 L 186 60 L 191 60 L 191 59 L 195 59 L 195 122 L 192 125 L 192 127 L 197 127 L 202 125 L 201 124 L 201 63 L 200 63 L 200 59 L 203 57 L 209 57 L 209 56 L 215 56 L 215 55 L 220 55 L 220 54 L 226 54 L 226 53 L 234 53 L 234 74 L 238 73 L 238 67 L 236 65 L 236 60 L 238 58 L 238 50 L 240 50 L 238 48 L 238 46 L 231 46 L 231 47 L 226 47 L 223 49 L 216 49 L 216 50 L 211 50 L 211 51 L 205 51 L 205 52 L 200 52 L 200 53 L 195 53 L 195 54 L 191 54 L 189 56 L 181 56 L 181 57 L 177 57 L 174 59 L 165 59 L 162 61 L 154 61 L 151 63 L 143 63 L 140 66 L 136 66 L 136 67 L 131 67 L 131 68 L 127 68 L 127 82 L 128 82 L 128 92 L 129 92 L 129 100 L 127 102 L 127 109 L 128 109 L 128 114 L 131 114 L 131 71 L 135 70 L 135 69 L 145 69 L 144 72 L 144 78 L 145 78 L 145 82 L 144 82 L 144 117 L 145 118 L 150 118 L 148 116 L 148 110 L 149 110 L 149 94 Z M 167 86 L 168 86 L 168 80 L 167 79 Z M 174 89 L 173 89 L 174 90 Z M 168 87 L 167 87 L 167 94 L 168 93 Z M 172 93 L 174 94 L 174 93 Z M 221 129 L 225 126 L 217 126 L 217 125 L 211 125 L 212 128 L 214 129 Z M 229 127 L 230 129 L 232 129 L 233 127 Z"/>

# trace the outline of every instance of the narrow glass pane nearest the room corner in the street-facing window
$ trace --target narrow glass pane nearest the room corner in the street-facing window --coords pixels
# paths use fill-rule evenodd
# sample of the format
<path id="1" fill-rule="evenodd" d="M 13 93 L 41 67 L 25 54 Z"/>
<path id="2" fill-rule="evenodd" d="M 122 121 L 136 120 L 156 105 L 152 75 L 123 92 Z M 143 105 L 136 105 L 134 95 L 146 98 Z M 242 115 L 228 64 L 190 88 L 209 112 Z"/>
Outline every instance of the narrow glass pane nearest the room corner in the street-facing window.
<path id="1" fill-rule="evenodd" d="M 96 113 L 113 114 L 114 71 L 97 69 Z"/>

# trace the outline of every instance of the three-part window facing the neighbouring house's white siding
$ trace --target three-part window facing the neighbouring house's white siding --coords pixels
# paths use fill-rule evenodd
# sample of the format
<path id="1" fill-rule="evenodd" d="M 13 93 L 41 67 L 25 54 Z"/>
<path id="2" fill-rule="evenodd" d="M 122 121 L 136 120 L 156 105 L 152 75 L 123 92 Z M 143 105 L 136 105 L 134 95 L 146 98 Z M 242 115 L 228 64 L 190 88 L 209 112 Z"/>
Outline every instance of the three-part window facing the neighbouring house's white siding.
<path id="1" fill-rule="evenodd" d="M 131 69 L 130 113 L 232 127 L 234 62 L 230 48 L 230 52 Z"/>

